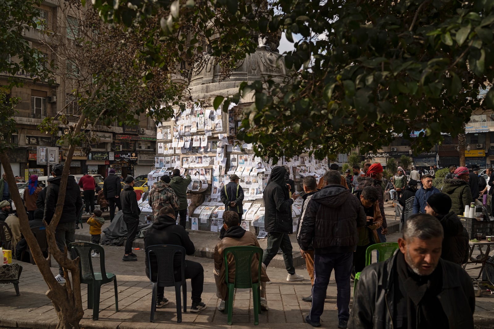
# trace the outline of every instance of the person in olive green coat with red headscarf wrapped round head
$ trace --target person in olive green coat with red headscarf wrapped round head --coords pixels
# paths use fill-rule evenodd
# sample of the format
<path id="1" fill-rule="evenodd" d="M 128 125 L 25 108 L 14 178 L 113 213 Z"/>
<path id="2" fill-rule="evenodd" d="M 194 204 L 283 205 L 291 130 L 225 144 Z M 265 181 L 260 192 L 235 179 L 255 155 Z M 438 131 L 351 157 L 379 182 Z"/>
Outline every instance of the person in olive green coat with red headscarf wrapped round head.
<path id="1" fill-rule="evenodd" d="M 451 211 L 456 215 L 463 216 L 465 206 L 473 202 L 472 192 L 468 184 L 468 168 L 458 167 L 453 174 L 453 179 L 445 179 L 443 193 L 448 194 L 451 198 Z"/>

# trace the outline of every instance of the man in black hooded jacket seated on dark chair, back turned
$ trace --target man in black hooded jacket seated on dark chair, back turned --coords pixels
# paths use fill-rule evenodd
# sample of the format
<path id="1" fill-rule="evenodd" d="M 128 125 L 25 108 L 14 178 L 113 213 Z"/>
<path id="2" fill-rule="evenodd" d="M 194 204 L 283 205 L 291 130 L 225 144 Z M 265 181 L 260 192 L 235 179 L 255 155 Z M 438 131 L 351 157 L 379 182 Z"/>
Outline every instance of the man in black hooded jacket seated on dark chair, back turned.
<path id="1" fill-rule="evenodd" d="M 146 230 L 144 235 L 144 247 L 154 245 L 175 245 L 185 248 L 187 255 L 194 255 L 196 249 L 194 243 L 190 240 L 189 235 L 182 225 L 177 225 L 175 222 L 175 211 L 169 205 L 163 206 L 160 210 L 157 220 Z M 180 259 L 179 254 L 173 261 L 173 270 L 180 274 Z M 156 282 L 158 274 L 158 260 L 151 256 L 151 270 Z M 146 275 L 149 278 L 148 255 L 146 254 Z M 204 284 L 204 269 L 203 265 L 192 260 L 185 260 L 185 278 L 191 279 L 192 285 L 192 306 L 191 312 L 199 312 L 206 308 L 206 304 L 201 300 Z M 180 281 L 180 277 L 175 277 L 175 280 Z M 156 307 L 163 307 L 168 303 L 168 299 L 164 297 L 164 287 L 158 287 Z"/>

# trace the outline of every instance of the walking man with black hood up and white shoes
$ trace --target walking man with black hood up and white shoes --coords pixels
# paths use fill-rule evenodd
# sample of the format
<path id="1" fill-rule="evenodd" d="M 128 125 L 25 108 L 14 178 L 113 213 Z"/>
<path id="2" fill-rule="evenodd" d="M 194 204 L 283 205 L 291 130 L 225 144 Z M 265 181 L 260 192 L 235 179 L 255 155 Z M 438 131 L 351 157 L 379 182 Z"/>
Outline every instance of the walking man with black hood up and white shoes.
<path id="1" fill-rule="evenodd" d="M 292 234 L 291 205 L 298 197 L 292 194 L 289 197 L 289 184 L 285 180 L 287 170 L 282 166 L 276 166 L 271 171 L 266 188 L 264 189 L 264 229 L 268 232 L 268 247 L 262 255 L 262 266 L 264 269 L 269 265 L 271 259 L 281 248 L 285 267 L 287 268 L 287 281 L 302 281 L 304 277 L 295 273 L 293 266 L 293 255 L 290 238 Z"/>

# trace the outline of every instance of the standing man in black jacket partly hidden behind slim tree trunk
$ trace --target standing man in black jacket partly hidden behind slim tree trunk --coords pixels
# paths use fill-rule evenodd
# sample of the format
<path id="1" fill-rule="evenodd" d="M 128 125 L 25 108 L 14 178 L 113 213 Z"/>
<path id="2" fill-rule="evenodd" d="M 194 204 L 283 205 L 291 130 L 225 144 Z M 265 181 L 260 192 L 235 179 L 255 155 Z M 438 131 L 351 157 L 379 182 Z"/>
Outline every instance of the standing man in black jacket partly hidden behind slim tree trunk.
<path id="1" fill-rule="evenodd" d="M 48 180 L 46 186 L 46 197 L 44 200 L 44 219 L 47 223 L 51 221 L 55 214 L 60 192 L 60 182 L 62 181 L 63 165 L 56 164 L 52 168 L 51 175 L 53 178 Z M 69 244 L 76 241 L 76 221 L 82 210 L 81 189 L 76 181 L 67 178 L 67 187 L 65 189 L 65 202 L 63 204 L 62 215 L 55 229 L 55 240 L 58 249 L 63 253 L 65 247 L 69 250 Z M 55 279 L 59 283 L 64 283 L 64 271 L 62 266 L 58 267 L 58 275 Z"/>

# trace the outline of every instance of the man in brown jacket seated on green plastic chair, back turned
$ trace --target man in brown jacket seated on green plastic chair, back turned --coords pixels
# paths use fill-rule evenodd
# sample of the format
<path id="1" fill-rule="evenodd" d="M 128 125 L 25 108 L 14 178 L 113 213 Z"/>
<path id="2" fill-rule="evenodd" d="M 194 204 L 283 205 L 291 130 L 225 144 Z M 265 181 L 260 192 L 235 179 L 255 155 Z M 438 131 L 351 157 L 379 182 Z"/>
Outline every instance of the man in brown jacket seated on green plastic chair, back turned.
<path id="1" fill-rule="evenodd" d="M 225 310 L 225 299 L 227 296 L 227 285 L 225 282 L 225 264 L 223 263 L 223 250 L 228 247 L 237 246 L 254 246 L 259 247 L 256 237 L 243 229 L 240 225 L 239 216 L 236 212 L 225 211 L 223 213 L 223 227 L 226 229 L 224 238 L 216 244 L 214 248 L 214 280 L 216 281 L 216 296 L 221 298 L 221 302 L 217 308 L 219 311 Z M 228 278 L 230 282 L 235 280 L 235 266 L 232 265 L 233 257 L 228 261 Z M 232 265 L 232 266 L 231 266 Z M 252 282 L 257 282 L 257 270 L 259 267 L 259 259 L 252 261 Z M 266 300 L 266 282 L 269 281 L 268 275 L 264 268 L 261 268 L 261 309 L 268 309 L 268 301 Z"/>

